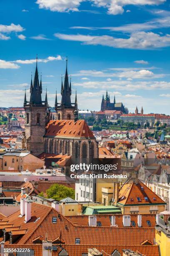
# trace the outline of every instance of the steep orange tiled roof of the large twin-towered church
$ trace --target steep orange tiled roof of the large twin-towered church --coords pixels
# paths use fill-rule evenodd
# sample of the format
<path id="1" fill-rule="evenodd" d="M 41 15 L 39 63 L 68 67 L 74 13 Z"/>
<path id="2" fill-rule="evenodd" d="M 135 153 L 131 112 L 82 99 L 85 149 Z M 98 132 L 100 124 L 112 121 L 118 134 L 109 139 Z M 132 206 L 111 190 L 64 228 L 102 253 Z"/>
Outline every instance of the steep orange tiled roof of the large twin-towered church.
<path id="1" fill-rule="evenodd" d="M 47 124 L 45 136 L 95 139 L 85 120 L 51 120 Z"/>

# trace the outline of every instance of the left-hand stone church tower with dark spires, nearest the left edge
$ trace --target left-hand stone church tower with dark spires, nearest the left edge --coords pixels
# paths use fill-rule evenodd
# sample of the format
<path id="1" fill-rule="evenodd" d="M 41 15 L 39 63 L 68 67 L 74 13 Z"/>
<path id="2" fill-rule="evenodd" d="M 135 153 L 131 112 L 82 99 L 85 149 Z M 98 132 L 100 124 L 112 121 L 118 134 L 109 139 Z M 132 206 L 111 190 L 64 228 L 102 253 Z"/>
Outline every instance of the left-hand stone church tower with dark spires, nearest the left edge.
<path id="1" fill-rule="evenodd" d="M 38 69 L 36 64 L 34 82 L 30 84 L 30 101 L 24 99 L 25 109 L 25 134 L 23 142 L 25 148 L 31 154 L 38 156 L 43 152 L 43 136 L 45 134 L 45 127 L 50 120 L 50 111 L 47 102 L 47 90 L 45 101 L 42 101 L 42 81 L 39 82 Z"/>

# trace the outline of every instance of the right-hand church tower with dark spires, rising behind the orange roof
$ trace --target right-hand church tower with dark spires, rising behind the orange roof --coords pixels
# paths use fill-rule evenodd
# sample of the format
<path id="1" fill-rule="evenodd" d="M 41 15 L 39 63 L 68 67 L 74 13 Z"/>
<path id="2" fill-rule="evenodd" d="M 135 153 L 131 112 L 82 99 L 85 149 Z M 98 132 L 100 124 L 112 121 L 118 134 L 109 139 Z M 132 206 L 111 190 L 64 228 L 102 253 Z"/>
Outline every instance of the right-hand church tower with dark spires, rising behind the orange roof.
<path id="1" fill-rule="evenodd" d="M 55 111 L 57 113 L 57 120 L 74 120 L 74 111 L 77 110 L 77 95 L 75 102 L 71 102 L 71 79 L 70 85 L 68 81 L 67 73 L 67 59 L 66 59 L 66 71 L 64 85 L 61 81 L 61 103 L 57 103 L 57 94 L 55 97 Z"/>

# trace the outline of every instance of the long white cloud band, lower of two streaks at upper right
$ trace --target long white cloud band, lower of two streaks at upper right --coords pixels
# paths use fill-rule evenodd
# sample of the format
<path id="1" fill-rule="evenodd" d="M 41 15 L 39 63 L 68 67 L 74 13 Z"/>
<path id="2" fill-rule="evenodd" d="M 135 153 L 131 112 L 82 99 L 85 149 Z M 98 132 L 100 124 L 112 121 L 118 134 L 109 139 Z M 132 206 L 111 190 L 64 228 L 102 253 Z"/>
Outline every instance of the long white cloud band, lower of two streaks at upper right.
<path id="1" fill-rule="evenodd" d="M 132 33 L 129 38 L 116 38 L 113 36 L 67 35 L 55 34 L 57 38 L 69 41 L 81 41 L 88 45 L 102 45 L 126 49 L 155 49 L 170 46 L 170 35 L 160 36 L 153 32 Z"/>

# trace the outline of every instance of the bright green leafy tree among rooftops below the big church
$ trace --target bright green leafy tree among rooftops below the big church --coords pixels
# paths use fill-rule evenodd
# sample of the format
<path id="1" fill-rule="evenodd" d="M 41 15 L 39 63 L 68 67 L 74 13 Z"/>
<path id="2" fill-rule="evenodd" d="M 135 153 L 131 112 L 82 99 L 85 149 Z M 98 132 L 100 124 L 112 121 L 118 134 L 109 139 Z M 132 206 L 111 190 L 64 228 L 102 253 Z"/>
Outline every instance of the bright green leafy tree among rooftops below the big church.
<path id="1" fill-rule="evenodd" d="M 64 185 L 53 184 L 49 189 L 46 191 L 47 198 L 53 198 L 57 201 L 65 197 L 71 197 L 75 199 L 75 190 L 70 187 L 65 187 Z"/>

